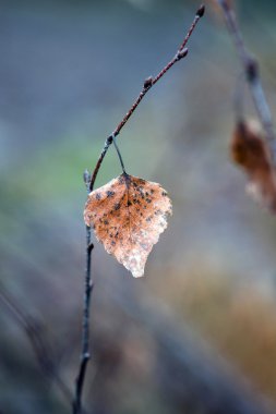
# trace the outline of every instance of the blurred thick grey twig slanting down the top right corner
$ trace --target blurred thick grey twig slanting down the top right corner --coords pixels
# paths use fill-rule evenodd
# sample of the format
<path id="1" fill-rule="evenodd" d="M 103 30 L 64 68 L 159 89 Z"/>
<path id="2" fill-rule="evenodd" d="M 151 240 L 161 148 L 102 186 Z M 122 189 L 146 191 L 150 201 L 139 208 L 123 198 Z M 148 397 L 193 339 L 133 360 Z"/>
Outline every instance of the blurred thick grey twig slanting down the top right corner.
<path id="1" fill-rule="evenodd" d="M 256 112 L 263 125 L 265 137 L 271 149 L 272 162 L 273 166 L 276 167 L 276 136 L 274 132 L 272 112 L 260 77 L 257 61 L 252 58 L 251 53 L 245 48 L 242 34 L 237 23 L 236 14 L 230 5 L 230 2 L 227 0 L 217 0 L 217 2 L 224 12 L 228 31 L 233 39 L 233 44 L 243 66 Z"/>

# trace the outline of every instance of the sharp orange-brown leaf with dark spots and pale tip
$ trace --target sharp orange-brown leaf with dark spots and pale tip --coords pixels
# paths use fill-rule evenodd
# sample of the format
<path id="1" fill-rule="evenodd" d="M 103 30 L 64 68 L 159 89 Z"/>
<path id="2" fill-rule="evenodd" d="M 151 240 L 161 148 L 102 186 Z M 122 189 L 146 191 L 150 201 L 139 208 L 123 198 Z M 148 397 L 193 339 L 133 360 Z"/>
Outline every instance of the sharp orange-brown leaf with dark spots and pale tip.
<path id="1" fill-rule="evenodd" d="M 86 226 L 134 278 L 144 275 L 153 245 L 167 228 L 171 202 L 158 184 L 122 173 L 88 195 Z"/>

